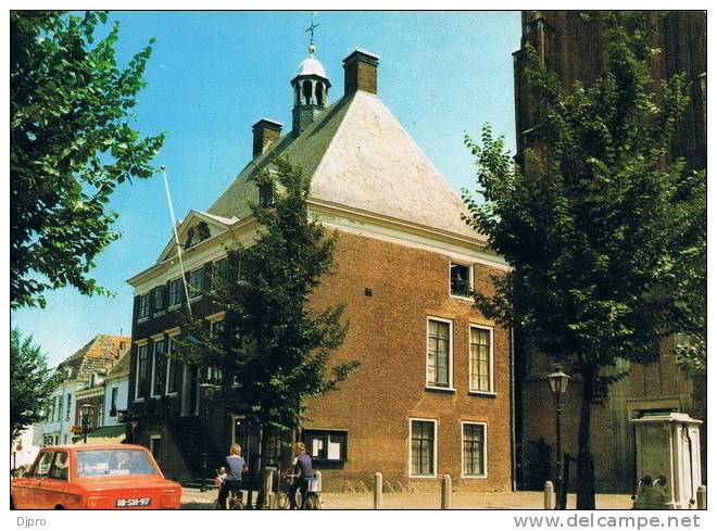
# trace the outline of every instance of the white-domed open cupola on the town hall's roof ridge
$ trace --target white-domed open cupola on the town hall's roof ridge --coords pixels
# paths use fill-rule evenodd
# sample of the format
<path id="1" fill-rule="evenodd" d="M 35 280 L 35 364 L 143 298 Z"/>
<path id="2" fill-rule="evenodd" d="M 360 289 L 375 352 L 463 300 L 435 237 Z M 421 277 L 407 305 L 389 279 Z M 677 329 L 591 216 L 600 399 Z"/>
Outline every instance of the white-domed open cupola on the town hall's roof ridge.
<path id="1" fill-rule="evenodd" d="M 324 65 L 314 58 L 316 47 L 309 45 L 309 56 L 299 64 L 297 76 L 291 79 L 293 89 L 292 135 L 298 137 L 328 106 L 328 89 L 331 83 Z"/>

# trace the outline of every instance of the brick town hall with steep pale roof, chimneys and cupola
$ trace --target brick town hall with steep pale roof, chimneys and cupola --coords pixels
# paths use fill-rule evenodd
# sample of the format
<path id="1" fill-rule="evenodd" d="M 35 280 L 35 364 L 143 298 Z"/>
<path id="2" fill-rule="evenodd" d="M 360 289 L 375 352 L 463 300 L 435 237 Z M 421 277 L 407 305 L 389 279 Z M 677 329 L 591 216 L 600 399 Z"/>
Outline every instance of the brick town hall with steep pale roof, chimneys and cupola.
<path id="1" fill-rule="evenodd" d="M 351 53 L 344 93 L 329 104 L 330 80 L 310 49 L 291 80 L 291 130 L 259 121 L 252 161 L 206 212 L 191 211 L 178 227 L 189 303 L 207 326 L 223 326 L 207 294 L 212 274 L 227 246 L 255 233 L 247 200 L 267 197 L 252 177 L 274 155 L 288 155 L 312 177 L 310 215 L 339 235 L 336 270 L 313 303 L 347 304 L 351 326 L 335 359 L 362 363 L 340 390 L 307 403 L 301 438 L 324 488 L 369 484 L 381 471 L 388 482 L 418 489 L 437 488 L 449 473 L 461 490 L 507 490 L 510 333 L 468 296 L 471 286 L 490 289 L 488 275 L 506 265 L 462 222 L 461 199 L 378 98 L 378 62 Z M 231 410 L 202 407 L 206 369 L 173 357 L 180 330 L 169 311 L 187 304 L 174 242 L 129 283 L 131 439 L 185 481 L 202 472 L 203 451 L 214 468 L 234 441 L 254 470 L 260 453 L 274 464 L 277 442 L 260 452 Z"/>

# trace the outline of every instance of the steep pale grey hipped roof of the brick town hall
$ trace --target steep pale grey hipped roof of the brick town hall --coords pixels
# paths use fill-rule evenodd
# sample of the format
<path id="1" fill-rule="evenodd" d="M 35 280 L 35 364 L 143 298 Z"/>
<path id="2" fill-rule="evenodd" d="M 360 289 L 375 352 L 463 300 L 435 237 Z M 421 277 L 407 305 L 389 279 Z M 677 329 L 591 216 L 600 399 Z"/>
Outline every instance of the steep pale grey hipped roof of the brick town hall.
<path id="1" fill-rule="evenodd" d="M 478 237 L 461 219 L 466 210 L 458 195 L 374 94 L 344 97 L 299 137 L 284 136 L 250 162 L 207 212 L 239 219 L 250 215 L 247 200 L 256 194 L 251 179 L 278 154 L 312 176 L 313 199 Z"/>

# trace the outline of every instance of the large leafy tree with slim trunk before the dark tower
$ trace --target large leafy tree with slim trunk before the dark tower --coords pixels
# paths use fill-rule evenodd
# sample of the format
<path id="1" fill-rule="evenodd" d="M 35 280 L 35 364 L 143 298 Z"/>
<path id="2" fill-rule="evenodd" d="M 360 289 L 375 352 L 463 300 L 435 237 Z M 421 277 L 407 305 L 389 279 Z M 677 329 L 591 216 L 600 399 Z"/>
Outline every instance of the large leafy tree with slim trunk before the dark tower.
<path id="1" fill-rule="evenodd" d="M 525 153 L 525 170 L 489 126 L 480 142 L 465 140 L 479 195 L 464 190 L 466 222 L 512 265 L 477 304 L 515 327 L 526 352 L 552 356 L 581 382 L 578 508 L 589 508 L 593 486 L 591 407 L 617 378 L 602 369 L 654 361 L 670 319 L 690 321 L 693 276 L 680 256 L 699 254 L 703 228 L 693 215 L 705 189 L 704 174 L 668 159 L 688 92 L 683 76 L 659 86 L 651 79 L 653 26 L 638 12 L 591 16 L 602 25 L 608 65 L 591 85 L 564 91 L 528 50 L 543 150 Z"/>

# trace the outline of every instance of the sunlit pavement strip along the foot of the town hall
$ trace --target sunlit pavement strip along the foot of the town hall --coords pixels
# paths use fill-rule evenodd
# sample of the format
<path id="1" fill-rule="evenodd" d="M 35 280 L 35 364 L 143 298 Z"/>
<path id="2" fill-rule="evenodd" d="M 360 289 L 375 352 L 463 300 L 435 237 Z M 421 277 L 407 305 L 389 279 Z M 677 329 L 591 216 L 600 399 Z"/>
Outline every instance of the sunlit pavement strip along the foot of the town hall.
<path id="1" fill-rule="evenodd" d="M 254 494 L 255 495 L 255 494 Z M 372 493 L 322 494 L 325 509 L 373 509 Z M 211 509 L 216 500 L 216 490 L 199 492 L 198 489 L 184 489 L 183 509 Z M 629 509 L 632 505 L 629 494 L 598 494 L 598 509 Z M 440 509 L 440 492 L 383 494 L 385 509 Z M 568 508 L 575 507 L 575 495 L 568 496 Z M 454 492 L 451 495 L 453 509 L 542 509 L 542 492 Z"/>

